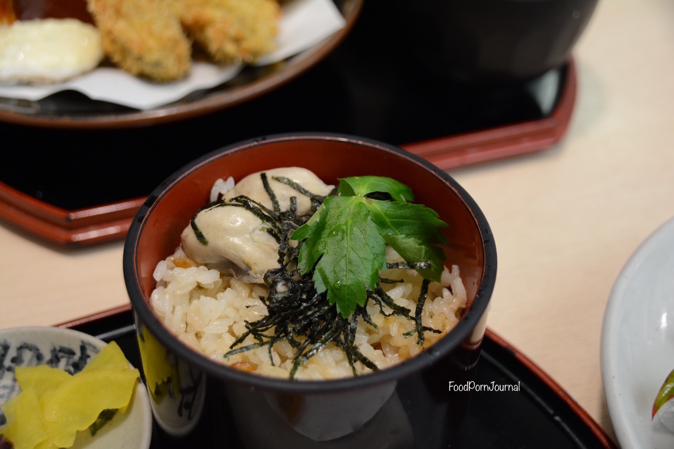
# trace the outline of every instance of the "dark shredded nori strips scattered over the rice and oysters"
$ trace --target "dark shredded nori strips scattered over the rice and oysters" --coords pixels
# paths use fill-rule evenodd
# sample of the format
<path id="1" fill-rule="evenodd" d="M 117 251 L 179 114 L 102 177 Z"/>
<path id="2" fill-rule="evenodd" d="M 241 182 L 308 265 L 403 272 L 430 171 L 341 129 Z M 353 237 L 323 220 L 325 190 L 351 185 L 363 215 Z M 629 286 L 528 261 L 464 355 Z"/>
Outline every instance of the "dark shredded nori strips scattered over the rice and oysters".
<path id="1" fill-rule="evenodd" d="M 440 333 L 437 329 L 421 324 L 421 312 L 429 285 L 429 281 L 426 279 L 423 281 L 421 294 L 413 316 L 411 310 L 398 306 L 380 285 L 380 283 L 402 282 L 402 279 L 380 278 L 374 290 L 367 289 L 365 306 L 357 306 L 353 314 L 348 318 L 344 318 L 337 311 L 337 308 L 328 302 L 326 293 L 317 293 L 312 279 L 313 271 L 305 275 L 299 273 L 297 258 L 302 242 L 299 242 L 295 247 L 290 245 L 290 236 L 293 234 L 293 231 L 309 220 L 326 197 L 315 195 L 288 178 L 274 176 L 274 180 L 293 187 L 299 194 L 311 199 L 312 211 L 310 215 L 300 216 L 297 214 L 297 200 L 295 197 L 290 198 L 290 208 L 288 211 L 281 211 L 266 174 L 262 173 L 261 178 L 262 184 L 272 201 L 272 209 L 268 209 L 249 197 L 239 196 L 228 201 L 214 201 L 197 211 L 198 214 L 211 207 L 243 207 L 254 213 L 263 223 L 266 223 L 267 227 L 265 230 L 274 236 L 279 243 L 278 263 L 280 267 L 265 273 L 264 282 L 269 287 L 269 292 L 267 296 L 259 298 L 267 307 L 268 315 L 254 322 L 245 322 L 247 331 L 242 333 L 232 343 L 230 346 L 231 351 L 225 353 L 224 357 L 267 346 L 270 361 L 274 365 L 272 347 L 274 343 L 285 340 L 295 350 L 293 367 L 290 370 L 290 378 L 293 379 L 295 374 L 297 374 L 297 370 L 307 360 L 332 341 L 346 354 L 346 359 L 354 375 L 357 375 L 356 361 L 360 361 L 361 364 L 371 370 L 377 370 L 377 365 L 365 357 L 354 345 L 358 322 L 361 318 L 374 328 L 377 327 L 367 312 L 367 304 L 370 301 L 379 306 L 379 311 L 384 316 L 398 315 L 414 321 L 415 329 L 404 335 L 409 336 L 417 333 L 417 344 L 419 345 L 423 345 L 424 331 Z M 336 194 L 336 191 L 330 193 L 330 195 L 334 194 Z M 191 226 L 197 239 L 205 245 L 208 242 L 195 223 L 197 214 L 191 220 Z M 398 269 L 425 269 L 429 267 L 429 263 L 390 263 L 387 266 L 388 268 Z M 390 310 L 390 312 L 386 312 L 386 309 Z M 237 347 L 249 335 L 252 335 L 256 342 Z"/>

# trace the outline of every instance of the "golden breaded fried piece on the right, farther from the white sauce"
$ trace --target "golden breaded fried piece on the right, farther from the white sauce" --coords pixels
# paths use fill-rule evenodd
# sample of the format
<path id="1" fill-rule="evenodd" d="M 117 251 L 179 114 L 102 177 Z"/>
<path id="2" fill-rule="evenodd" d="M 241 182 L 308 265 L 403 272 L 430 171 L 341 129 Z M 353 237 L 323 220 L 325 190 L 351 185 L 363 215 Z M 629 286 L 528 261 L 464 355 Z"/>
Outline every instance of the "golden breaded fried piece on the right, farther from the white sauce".
<path id="1" fill-rule="evenodd" d="M 183 0 L 181 22 L 216 63 L 244 62 L 276 49 L 276 0 Z"/>

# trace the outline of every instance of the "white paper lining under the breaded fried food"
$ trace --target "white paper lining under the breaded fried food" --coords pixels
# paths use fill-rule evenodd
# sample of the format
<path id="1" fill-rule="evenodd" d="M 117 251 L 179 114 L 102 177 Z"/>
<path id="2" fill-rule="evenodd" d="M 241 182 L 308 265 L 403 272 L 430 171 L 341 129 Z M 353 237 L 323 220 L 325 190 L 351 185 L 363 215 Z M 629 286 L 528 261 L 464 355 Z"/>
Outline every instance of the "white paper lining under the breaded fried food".
<path id="1" fill-rule="evenodd" d="M 267 65 L 297 55 L 346 25 L 332 0 L 294 0 L 282 7 L 278 49 L 258 61 Z M 195 90 L 215 87 L 235 77 L 243 65 L 193 63 L 185 79 L 152 83 L 120 69 L 98 67 L 90 73 L 50 85 L 0 85 L 0 97 L 40 100 L 55 92 L 76 90 L 93 100 L 105 100 L 137 109 L 175 102 Z"/>

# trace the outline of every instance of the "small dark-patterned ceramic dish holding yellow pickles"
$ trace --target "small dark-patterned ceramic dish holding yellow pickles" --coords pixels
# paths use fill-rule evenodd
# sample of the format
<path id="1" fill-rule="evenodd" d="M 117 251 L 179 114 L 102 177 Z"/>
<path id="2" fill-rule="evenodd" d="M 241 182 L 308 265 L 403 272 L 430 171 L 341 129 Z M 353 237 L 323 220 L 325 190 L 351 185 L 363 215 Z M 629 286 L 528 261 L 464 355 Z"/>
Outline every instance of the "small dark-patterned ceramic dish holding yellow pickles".
<path id="1" fill-rule="evenodd" d="M 71 373 L 84 368 L 106 343 L 72 329 L 34 326 L 0 330 L 0 404 L 20 392 L 14 366 L 48 364 Z M 4 421 L 4 419 L 3 419 Z M 96 436 L 78 432 L 73 449 L 147 449 L 152 439 L 152 409 L 145 385 L 137 382 L 126 413 L 117 413 Z"/>

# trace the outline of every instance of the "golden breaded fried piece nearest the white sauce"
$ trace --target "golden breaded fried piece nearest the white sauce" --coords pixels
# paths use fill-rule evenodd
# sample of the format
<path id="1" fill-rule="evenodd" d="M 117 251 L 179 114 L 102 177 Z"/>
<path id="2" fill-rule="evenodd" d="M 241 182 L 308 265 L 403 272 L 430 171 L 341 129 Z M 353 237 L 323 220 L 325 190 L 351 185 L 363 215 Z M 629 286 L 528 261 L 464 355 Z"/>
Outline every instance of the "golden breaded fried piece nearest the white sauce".
<path id="1" fill-rule="evenodd" d="M 154 81 L 189 73 L 192 43 L 172 0 L 88 0 L 88 9 L 106 55 L 121 69 Z"/>

